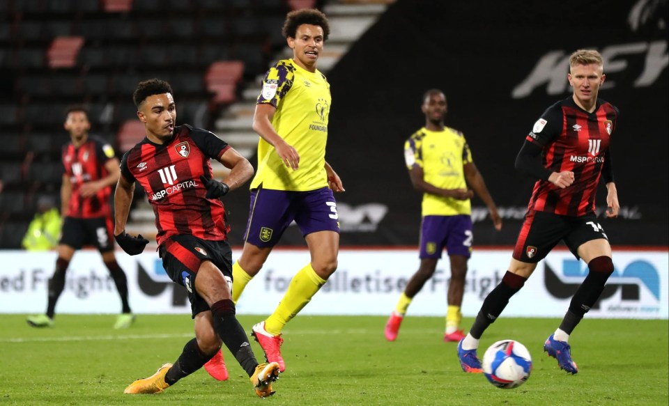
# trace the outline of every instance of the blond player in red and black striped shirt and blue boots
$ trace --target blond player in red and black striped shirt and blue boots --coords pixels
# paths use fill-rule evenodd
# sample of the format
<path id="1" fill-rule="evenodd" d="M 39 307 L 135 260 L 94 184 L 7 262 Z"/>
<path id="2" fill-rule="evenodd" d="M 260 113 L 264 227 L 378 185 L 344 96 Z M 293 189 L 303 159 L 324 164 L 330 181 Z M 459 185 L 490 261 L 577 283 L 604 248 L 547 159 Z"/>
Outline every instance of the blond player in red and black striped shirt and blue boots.
<path id="1" fill-rule="evenodd" d="M 564 241 L 588 274 L 571 299 L 560 327 L 546 339 L 544 351 L 567 373 L 578 372 L 571 359 L 569 335 L 597 302 L 613 273 L 611 247 L 594 210 L 600 178 L 608 195 L 606 217 L 617 217 L 620 204 L 613 180 L 610 140 L 618 110 L 597 95 L 603 74 L 601 55 L 580 49 L 569 58 L 569 84 L 574 94 L 549 107 L 525 139 L 516 169 L 537 178 L 509 270 L 490 292 L 469 334 L 458 346 L 466 372 L 480 372 L 476 349 L 486 328 L 502 313 L 537 263 Z"/>

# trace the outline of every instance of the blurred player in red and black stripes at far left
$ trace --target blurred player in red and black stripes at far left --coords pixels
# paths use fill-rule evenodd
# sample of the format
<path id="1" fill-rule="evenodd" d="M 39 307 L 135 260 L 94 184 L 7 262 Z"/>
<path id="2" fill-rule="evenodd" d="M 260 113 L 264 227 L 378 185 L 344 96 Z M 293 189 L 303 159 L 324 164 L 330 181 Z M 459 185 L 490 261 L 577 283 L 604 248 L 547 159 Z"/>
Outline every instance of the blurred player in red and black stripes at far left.
<path id="1" fill-rule="evenodd" d="M 47 313 L 30 316 L 27 321 L 33 327 L 54 325 L 56 302 L 65 288 L 70 260 L 77 249 L 91 244 L 100 251 L 102 262 L 121 297 L 121 314 L 116 318 L 114 328 L 127 328 L 132 325 L 134 315 L 128 304 L 128 279 L 114 255 L 114 224 L 109 202 L 112 185 L 116 184 L 120 173 L 118 159 L 112 146 L 89 136 L 91 123 L 83 107 L 68 109 L 64 127 L 70 132 L 70 142 L 63 146 L 65 173 L 61 185 L 61 212 L 65 218 L 56 270 L 49 279 Z"/>

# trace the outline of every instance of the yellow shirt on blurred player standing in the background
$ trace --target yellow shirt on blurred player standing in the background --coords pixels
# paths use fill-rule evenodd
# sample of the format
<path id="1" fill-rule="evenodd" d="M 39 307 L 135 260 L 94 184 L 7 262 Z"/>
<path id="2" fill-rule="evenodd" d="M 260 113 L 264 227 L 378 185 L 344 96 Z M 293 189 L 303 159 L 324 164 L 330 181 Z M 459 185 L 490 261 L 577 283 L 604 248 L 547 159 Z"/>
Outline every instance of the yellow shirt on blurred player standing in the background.
<path id="1" fill-rule="evenodd" d="M 408 169 L 423 169 L 423 180 L 442 189 L 466 189 L 464 165 L 472 162 L 465 136 L 458 130 L 444 127 L 431 131 L 422 127 L 404 143 L 404 159 Z M 423 216 L 454 216 L 471 214 L 470 199 L 423 194 Z"/>

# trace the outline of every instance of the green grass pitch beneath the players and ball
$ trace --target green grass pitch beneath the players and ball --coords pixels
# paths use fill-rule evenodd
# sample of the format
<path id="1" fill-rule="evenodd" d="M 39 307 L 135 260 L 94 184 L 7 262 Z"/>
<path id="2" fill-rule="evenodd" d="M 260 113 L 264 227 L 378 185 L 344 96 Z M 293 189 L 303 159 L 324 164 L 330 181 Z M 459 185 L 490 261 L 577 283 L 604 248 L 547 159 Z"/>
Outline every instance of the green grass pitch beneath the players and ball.
<path id="1" fill-rule="evenodd" d="M 249 331 L 259 316 L 240 315 Z M 25 315 L 0 315 L 0 405 L 668 405 L 669 321 L 584 320 L 570 343 L 577 375 L 557 368 L 542 345 L 559 320 L 500 318 L 491 343 L 512 338 L 534 361 L 517 389 L 493 387 L 463 373 L 456 343 L 443 343 L 443 318 L 404 320 L 394 343 L 385 317 L 299 315 L 284 330 L 286 372 L 275 396 L 261 400 L 225 350 L 231 373 L 217 382 L 199 370 L 157 395 L 123 389 L 174 362 L 192 337 L 189 315 L 138 315 L 114 330 L 114 315 L 59 315 L 33 329 Z M 468 328 L 472 320 L 463 320 Z M 252 341 L 256 357 L 262 351 Z"/>

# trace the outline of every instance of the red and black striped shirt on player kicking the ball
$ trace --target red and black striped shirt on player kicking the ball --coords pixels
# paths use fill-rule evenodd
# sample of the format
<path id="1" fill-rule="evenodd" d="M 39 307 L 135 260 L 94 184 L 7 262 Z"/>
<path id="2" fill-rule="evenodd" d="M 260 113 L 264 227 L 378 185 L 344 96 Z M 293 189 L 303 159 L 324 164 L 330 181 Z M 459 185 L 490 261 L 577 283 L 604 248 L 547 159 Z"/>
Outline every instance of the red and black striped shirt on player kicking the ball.
<path id="1" fill-rule="evenodd" d="M 223 203 L 205 197 L 200 176 L 211 178 L 209 159 L 219 159 L 228 148 L 211 132 L 181 125 L 168 143 L 145 138 L 123 155 L 121 175 L 144 187 L 153 206 L 159 245 L 178 234 L 226 240 L 229 226 Z"/>

